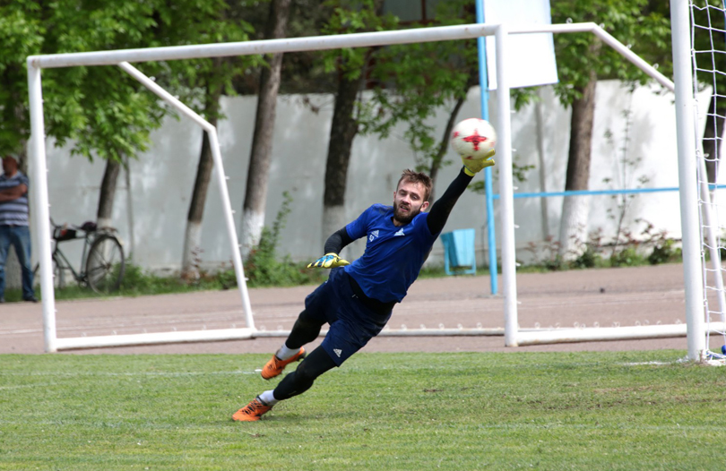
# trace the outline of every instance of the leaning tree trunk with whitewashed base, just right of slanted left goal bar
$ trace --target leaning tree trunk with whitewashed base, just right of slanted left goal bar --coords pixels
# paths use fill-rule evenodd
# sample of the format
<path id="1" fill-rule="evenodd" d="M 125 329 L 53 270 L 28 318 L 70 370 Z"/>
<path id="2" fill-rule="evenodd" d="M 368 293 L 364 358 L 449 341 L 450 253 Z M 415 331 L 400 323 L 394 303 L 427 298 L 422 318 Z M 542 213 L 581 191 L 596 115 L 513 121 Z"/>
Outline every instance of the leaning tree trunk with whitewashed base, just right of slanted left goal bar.
<path id="1" fill-rule="evenodd" d="M 284 38 L 287 34 L 291 0 L 272 0 L 265 29 L 265 39 Z M 280 90 L 282 54 L 269 56 L 269 68 L 264 67 L 260 77 L 255 133 L 252 138 L 245 202 L 242 208 L 242 258 L 260 242 L 264 227 L 264 210 L 267 203 L 267 184 L 270 177 L 272 136 Z"/>

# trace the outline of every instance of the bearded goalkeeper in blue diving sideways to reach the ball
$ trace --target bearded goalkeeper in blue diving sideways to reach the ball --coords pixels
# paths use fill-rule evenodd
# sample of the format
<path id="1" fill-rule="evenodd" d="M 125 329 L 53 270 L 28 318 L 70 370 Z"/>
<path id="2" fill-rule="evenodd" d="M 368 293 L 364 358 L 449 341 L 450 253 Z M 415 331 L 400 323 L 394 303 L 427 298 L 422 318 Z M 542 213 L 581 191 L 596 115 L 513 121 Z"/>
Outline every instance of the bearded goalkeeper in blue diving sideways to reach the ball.
<path id="1" fill-rule="evenodd" d="M 494 165 L 494 150 L 483 160 L 464 159 L 459 175 L 445 193 L 428 208 L 431 179 L 405 170 L 393 193 L 393 207 L 374 204 L 325 242 L 325 255 L 308 268 L 333 269 L 330 277 L 305 299 L 305 310 L 295 321 L 290 336 L 264 365 L 262 377 L 269 380 L 288 364 L 302 360 L 274 390 L 266 390 L 233 420 L 260 420 L 281 400 L 310 389 L 315 379 L 350 358 L 367 341 L 376 337 L 391 318 L 393 306 L 400 303 L 418 278 L 419 270 L 441 233 L 449 213 L 472 177 Z M 366 250 L 353 263 L 338 253 L 356 239 L 366 237 Z M 317 338 L 324 323 L 330 329 L 319 347 L 306 356 L 303 347 Z"/>

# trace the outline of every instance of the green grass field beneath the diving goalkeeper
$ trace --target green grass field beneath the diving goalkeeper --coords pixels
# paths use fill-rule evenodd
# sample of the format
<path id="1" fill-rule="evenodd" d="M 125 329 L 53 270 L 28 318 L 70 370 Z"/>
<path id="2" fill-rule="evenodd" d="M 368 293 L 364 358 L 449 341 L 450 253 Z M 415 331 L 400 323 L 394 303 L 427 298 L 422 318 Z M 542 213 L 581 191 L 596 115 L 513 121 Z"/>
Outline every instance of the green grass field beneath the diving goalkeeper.
<path id="1" fill-rule="evenodd" d="M 721 469 L 685 355 L 361 353 L 249 424 L 267 355 L 2 355 L 0 469 Z"/>

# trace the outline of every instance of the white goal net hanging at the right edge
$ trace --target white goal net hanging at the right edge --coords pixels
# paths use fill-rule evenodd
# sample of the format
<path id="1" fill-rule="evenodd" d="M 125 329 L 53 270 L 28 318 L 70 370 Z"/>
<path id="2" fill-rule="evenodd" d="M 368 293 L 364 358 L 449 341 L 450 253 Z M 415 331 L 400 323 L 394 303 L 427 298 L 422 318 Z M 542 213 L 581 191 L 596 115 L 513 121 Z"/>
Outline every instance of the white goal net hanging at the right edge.
<path id="1" fill-rule="evenodd" d="M 720 175 L 726 120 L 726 8 L 722 0 L 690 2 L 694 97 L 696 98 L 696 158 L 701 221 L 701 262 L 704 275 L 705 356 L 726 359 L 726 301 L 722 259 L 722 188 Z"/>

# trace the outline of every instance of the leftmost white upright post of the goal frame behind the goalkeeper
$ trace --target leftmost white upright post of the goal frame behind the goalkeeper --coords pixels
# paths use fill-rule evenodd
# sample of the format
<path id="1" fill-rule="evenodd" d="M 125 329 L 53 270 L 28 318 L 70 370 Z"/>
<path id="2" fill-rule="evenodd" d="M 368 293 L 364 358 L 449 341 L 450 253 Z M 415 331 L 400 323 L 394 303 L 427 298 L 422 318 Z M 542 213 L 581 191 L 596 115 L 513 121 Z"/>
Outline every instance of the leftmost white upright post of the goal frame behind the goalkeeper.
<path id="1" fill-rule="evenodd" d="M 33 243 L 39 254 L 40 293 L 43 301 L 43 336 L 46 353 L 56 352 L 56 293 L 53 290 L 53 262 L 50 251 L 50 205 L 48 204 L 48 167 L 46 167 L 43 90 L 40 69 L 28 60 L 28 95 L 30 105 L 30 214 L 35 225 Z"/>

